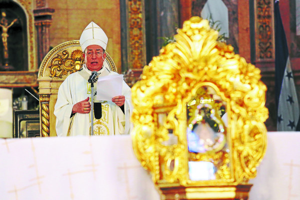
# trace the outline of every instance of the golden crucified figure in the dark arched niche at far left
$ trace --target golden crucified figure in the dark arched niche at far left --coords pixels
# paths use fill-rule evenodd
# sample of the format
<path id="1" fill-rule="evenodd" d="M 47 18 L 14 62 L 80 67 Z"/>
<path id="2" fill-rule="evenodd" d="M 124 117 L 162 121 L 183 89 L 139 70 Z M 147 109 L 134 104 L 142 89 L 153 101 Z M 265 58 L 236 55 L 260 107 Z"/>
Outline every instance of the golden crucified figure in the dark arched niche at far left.
<path id="1" fill-rule="evenodd" d="M 2 12 L 2 18 L 0 20 L 0 26 L 2 27 L 2 42 L 3 42 L 3 51 L 4 51 L 4 62 L 5 62 L 5 66 L 8 66 L 8 47 L 7 47 L 7 37 L 9 36 L 7 34 L 7 30 L 10 26 L 13 25 L 13 23 L 17 20 L 17 19 L 13 19 L 13 21 L 11 21 L 11 23 L 8 25 L 8 20 L 5 18 L 6 17 L 6 13 Z"/>

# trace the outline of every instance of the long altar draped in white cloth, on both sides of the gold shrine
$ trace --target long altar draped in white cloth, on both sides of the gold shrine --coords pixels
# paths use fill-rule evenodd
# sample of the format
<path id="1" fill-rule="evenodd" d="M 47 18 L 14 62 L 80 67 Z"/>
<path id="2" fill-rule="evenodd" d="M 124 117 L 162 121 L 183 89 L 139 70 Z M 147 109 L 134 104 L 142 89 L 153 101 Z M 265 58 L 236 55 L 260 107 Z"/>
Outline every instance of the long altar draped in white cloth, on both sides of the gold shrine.
<path id="1" fill-rule="evenodd" d="M 299 199 L 299 132 L 268 132 L 250 200 Z M 159 199 L 131 137 L 0 139 L 1 199 Z"/>

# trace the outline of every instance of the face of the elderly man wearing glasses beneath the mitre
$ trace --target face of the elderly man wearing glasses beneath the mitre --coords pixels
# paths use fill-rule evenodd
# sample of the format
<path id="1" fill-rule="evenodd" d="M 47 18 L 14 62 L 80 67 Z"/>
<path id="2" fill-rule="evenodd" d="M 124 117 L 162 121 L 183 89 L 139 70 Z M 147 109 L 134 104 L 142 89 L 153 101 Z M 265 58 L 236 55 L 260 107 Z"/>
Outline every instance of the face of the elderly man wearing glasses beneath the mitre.
<path id="1" fill-rule="evenodd" d="M 86 67 L 91 71 L 98 71 L 102 68 L 106 54 L 101 46 L 93 44 L 86 47 L 84 56 Z"/>

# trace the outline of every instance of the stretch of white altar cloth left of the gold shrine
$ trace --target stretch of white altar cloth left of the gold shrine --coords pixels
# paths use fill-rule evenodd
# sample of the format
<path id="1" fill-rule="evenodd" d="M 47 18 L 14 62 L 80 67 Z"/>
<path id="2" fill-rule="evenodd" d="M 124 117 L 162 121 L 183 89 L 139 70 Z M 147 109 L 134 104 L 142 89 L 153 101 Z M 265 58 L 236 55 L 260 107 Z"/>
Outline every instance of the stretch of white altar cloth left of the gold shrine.
<path id="1" fill-rule="evenodd" d="M 159 199 L 130 135 L 0 139 L 0 199 Z"/>

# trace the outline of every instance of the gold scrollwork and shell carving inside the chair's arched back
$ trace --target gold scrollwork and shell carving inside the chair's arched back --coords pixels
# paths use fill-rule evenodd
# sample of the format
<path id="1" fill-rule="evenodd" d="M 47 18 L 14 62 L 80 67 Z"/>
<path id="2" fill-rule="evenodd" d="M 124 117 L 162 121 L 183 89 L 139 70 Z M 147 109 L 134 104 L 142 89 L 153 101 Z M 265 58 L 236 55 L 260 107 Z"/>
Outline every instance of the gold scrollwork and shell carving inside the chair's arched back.
<path id="1" fill-rule="evenodd" d="M 62 51 L 61 55 L 58 55 L 51 60 L 50 77 L 59 77 L 66 75 L 68 72 L 73 73 L 80 70 L 83 62 L 83 52 L 79 49 L 74 50 L 69 58 L 69 52 L 67 50 Z"/>

